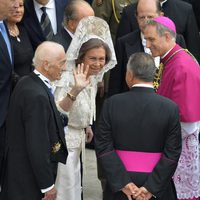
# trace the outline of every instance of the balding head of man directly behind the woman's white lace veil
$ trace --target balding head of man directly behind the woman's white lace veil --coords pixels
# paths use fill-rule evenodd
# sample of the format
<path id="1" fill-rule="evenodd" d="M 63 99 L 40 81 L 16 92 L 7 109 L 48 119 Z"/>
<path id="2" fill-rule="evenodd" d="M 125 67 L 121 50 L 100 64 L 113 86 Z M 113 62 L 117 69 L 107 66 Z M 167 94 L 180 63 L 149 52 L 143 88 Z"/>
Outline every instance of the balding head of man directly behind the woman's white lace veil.
<path id="1" fill-rule="evenodd" d="M 88 16 L 94 16 L 94 10 L 84 0 L 71 0 L 64 12 L 64 26 L 72 33 L 76 31 L 79 21 Z"/>

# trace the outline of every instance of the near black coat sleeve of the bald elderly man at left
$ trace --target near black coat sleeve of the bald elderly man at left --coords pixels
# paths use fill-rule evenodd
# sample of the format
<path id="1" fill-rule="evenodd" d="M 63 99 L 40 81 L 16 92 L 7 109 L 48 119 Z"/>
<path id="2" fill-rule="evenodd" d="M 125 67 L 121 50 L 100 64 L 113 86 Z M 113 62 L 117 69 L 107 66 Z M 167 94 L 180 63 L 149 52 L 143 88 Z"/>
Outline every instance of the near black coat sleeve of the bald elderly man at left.
<path id="1" fill-rule="evenodd" d="M 24 128 L 28 157 L 40 189 L 54 184 L 54 175 L 50 161 L 50 139 L 48 124 L 52 112 L 45 96 L 29 96 L 24 105 Z M 28 103 L 27 103 L 28 102 Z"/>

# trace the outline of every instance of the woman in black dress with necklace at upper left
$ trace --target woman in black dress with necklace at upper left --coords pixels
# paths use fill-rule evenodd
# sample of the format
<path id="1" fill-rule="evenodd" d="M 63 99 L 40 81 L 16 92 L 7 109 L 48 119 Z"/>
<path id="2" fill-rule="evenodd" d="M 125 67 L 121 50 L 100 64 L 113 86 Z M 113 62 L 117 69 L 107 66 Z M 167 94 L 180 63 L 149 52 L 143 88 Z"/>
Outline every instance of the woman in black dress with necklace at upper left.
<path id="1" fill-rule="evenodd" d="M 14 72 L 22 77 L 32 71 L 33 48 L 25 28 L 19 24 L 24 15 L 24 0 L 17 0 L 9 11 L 7 26 L 14 51 Z"/>

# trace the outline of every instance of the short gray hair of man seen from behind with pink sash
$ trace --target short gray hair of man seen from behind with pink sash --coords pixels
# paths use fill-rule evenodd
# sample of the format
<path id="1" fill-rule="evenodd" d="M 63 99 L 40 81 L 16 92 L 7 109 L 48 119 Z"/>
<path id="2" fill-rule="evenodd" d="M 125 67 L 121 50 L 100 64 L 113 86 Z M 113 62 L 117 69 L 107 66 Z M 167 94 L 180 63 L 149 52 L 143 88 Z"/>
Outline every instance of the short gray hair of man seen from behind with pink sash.
<path id="1" fill-rule="evenodd" d="M 131 55 L 127 69 L 133 72 L 135 78 L 145 82 L 152 82 L 156 72 L 153 57 L 143 52 Z"/>

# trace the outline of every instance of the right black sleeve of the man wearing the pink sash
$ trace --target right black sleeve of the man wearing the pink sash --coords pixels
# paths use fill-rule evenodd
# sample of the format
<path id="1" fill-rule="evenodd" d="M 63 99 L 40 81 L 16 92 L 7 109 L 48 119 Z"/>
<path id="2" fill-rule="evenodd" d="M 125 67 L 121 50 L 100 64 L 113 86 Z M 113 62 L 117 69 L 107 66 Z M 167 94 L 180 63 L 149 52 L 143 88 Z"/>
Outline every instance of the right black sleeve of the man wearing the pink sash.
<path id="1" fill-rule="evenodd" d="M 148 176 L 144 187 L 159 199 L 167 189 L 166 183 L 172 178 L 181 154 L 181 127 L 178 108 L 172 112 L 168 125 L 163 155 L 153 172 Z"/>

